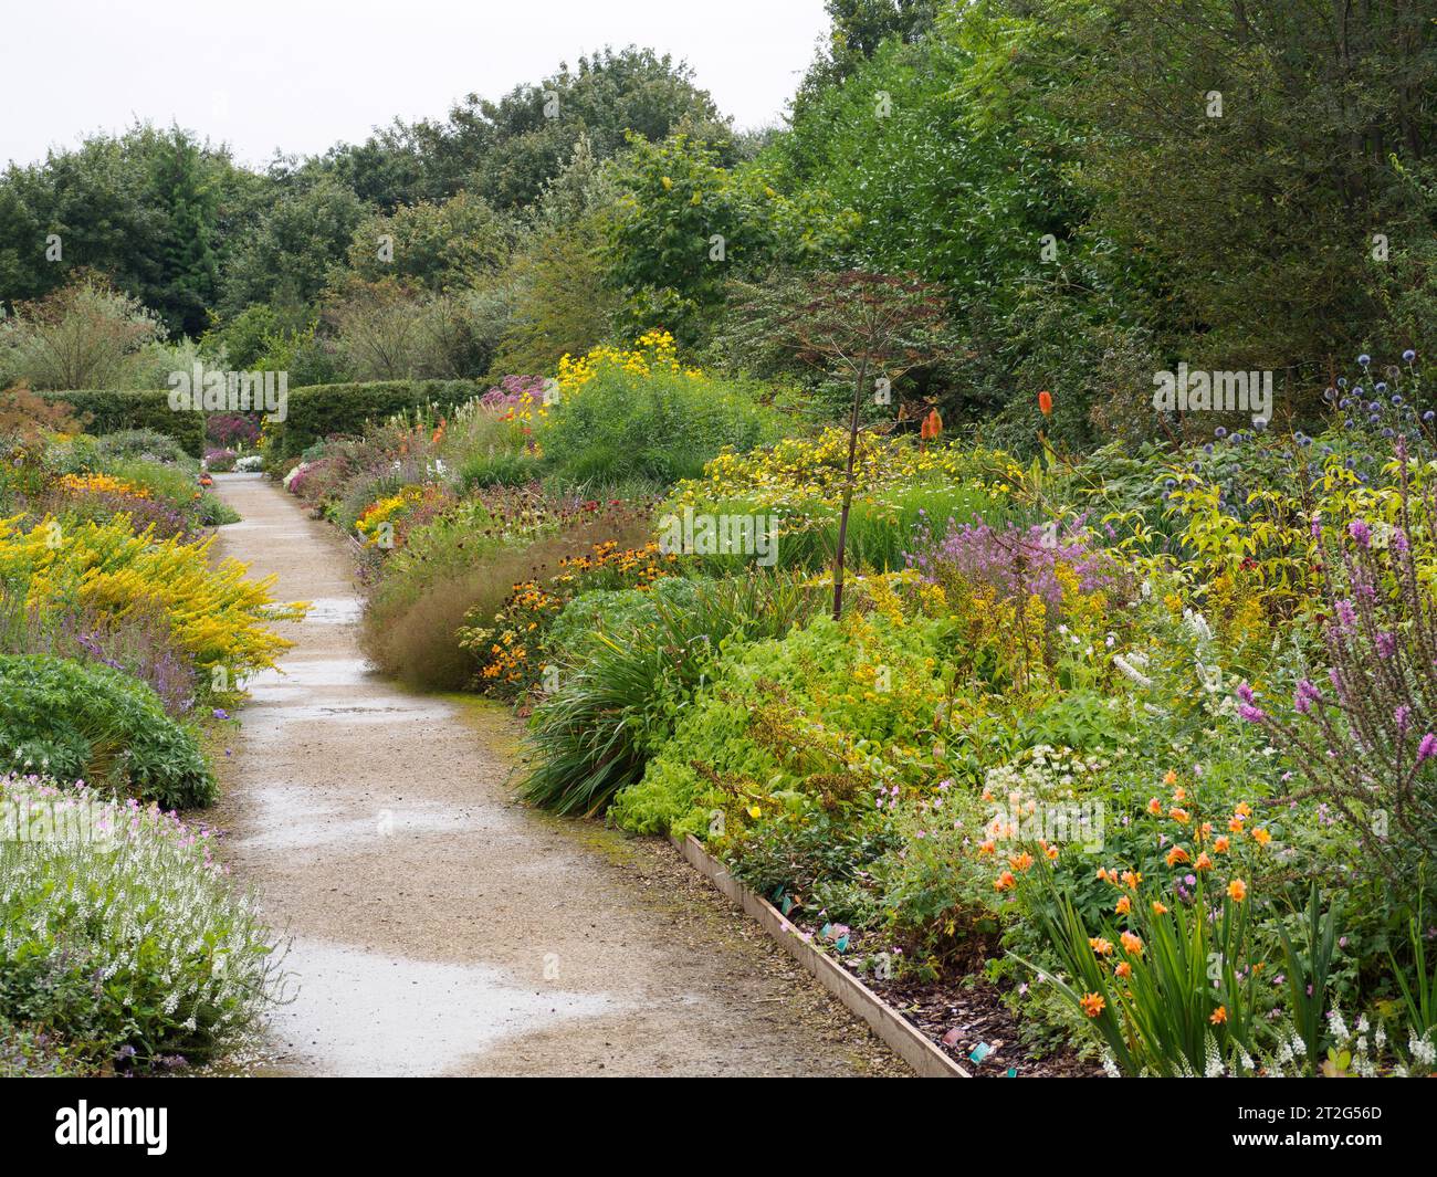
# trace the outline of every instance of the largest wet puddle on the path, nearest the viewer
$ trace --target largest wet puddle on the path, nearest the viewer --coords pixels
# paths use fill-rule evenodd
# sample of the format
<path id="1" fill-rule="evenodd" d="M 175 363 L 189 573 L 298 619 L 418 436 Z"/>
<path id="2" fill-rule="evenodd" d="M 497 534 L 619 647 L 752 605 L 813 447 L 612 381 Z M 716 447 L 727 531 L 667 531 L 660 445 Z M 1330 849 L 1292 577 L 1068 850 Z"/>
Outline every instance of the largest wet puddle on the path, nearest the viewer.
<path id="1" fill-rule="evenodd" d="M 622 1012 L 608 993 L 519 987 L 497 969 L 440 964 L 296 938 L 295 1000 L 273 1035 L 323 1075 L 443 1075 L 506 1038 Z M 306 986 L 305 977 L 322 983 Z"/>

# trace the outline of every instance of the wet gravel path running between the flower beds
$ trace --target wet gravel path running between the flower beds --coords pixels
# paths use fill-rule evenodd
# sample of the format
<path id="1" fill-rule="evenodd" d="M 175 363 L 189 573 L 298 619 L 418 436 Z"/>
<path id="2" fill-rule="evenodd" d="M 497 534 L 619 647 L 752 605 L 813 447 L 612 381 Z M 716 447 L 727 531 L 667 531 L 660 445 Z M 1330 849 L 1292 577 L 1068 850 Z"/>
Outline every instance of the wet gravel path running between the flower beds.
<path id="1" fill-rule="evenodd" d="M 502 708 L 402 691 L 356 647 L 345 542 L 259 476 L 218 552 L 313 601 L 250 684 L 224 855 L 293 937 L 274 1074 L 904 1075 L 661 841 L 516 805 Z"/>

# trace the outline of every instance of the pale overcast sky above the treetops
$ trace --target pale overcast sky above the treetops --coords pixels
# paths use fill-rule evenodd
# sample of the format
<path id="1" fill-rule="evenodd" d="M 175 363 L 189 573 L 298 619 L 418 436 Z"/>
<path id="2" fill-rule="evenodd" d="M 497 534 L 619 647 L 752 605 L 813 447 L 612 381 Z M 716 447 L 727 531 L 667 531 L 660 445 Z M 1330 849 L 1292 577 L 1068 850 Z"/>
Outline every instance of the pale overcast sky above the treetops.
<path id="1" fill-rule="evenodd" d="M 629 43 L 685 59 L 736 126 L 760 126 L 826 26 L 823 0 L 4 0 L 0 161 L 138 118 L 263 164 Z"/>

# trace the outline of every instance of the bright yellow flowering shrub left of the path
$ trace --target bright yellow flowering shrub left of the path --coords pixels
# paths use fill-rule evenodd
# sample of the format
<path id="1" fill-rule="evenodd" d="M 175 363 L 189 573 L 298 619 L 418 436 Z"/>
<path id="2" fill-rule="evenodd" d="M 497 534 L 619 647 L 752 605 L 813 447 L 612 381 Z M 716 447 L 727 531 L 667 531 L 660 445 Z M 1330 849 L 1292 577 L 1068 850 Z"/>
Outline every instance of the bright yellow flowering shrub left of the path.
<path id="1" fill-rule="evenodd" d="M 308 608 L 276 604 L 273 576 L 247 581 L 237 560 L 211 565 L 213 537 L 157 540 L 151 530 L 135 535 L 124 516 L 70 526 L 45 519 L 29 530 L 22 519 L 0 519 L 0 582 L 23 594 L 27 609 L 122 618 L 158 608 L 201 670 L 224 667 L 237 678 L 272 667 L 290 642 L 266 622 L 299 621 Z"/>

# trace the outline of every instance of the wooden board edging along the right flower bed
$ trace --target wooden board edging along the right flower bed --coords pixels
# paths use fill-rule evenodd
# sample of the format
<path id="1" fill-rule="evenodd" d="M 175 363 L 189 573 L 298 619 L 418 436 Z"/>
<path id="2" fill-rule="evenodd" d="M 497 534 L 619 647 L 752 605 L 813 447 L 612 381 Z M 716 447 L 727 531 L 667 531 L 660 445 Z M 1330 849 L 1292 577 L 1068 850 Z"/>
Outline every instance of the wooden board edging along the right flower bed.
<path id="1" fill-rule="evenodd" d="M 752 915 L 764 931 L 799 964 L 808 969 L 829 993 L 862 1017 L 887 1045 L 924 1079 L 967 1079 L 969 1072 L 940 1051 L 908 1019 L 874 993 L 844 966 L 835 963 L 802 940 L 793 926 L 766 898 L 754 894 L 736 880 L 729 869 L 708 854 L 691 834 L 671 838 L 674 848 L 698 874 L 707 878 L 734 904 Z"/>

